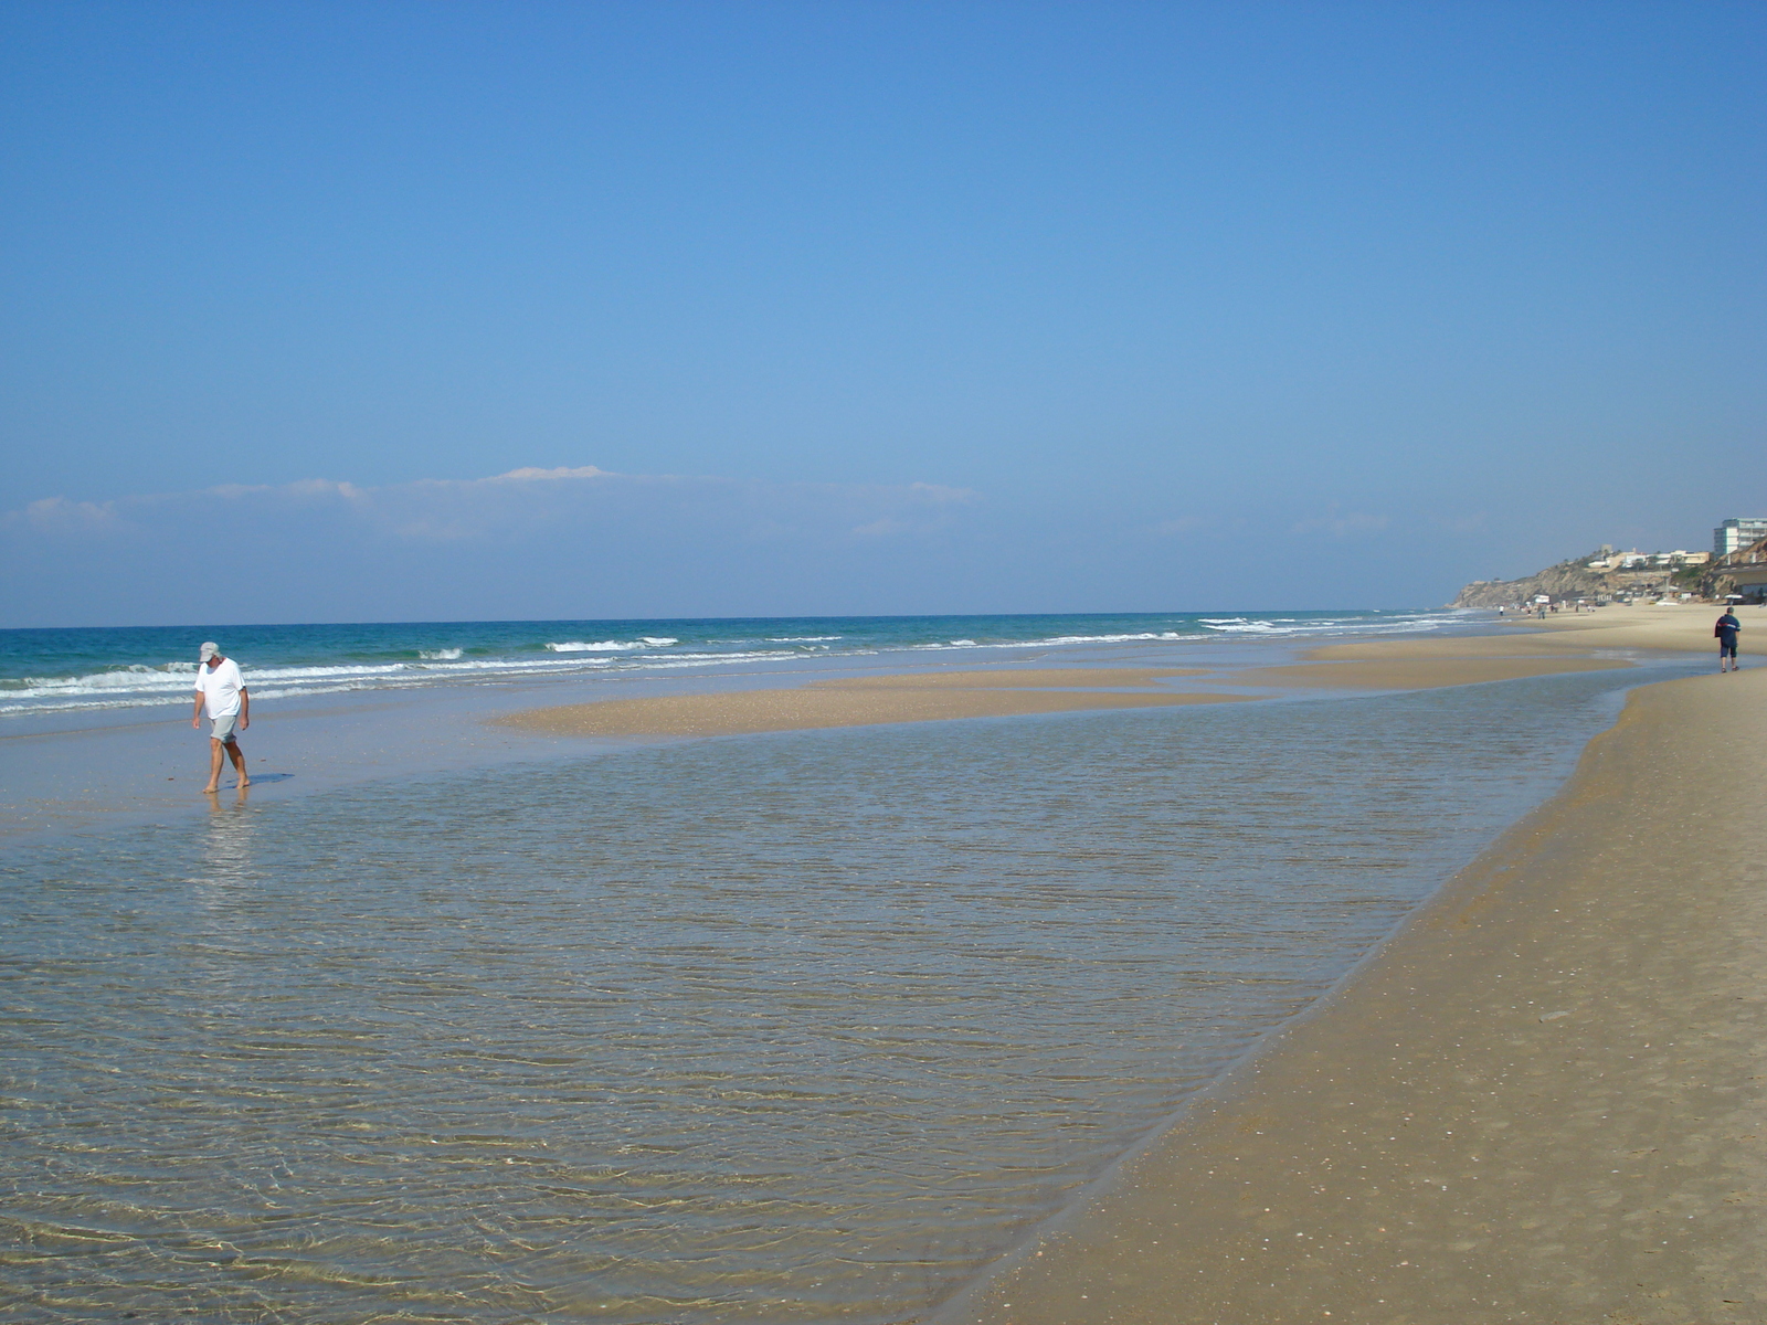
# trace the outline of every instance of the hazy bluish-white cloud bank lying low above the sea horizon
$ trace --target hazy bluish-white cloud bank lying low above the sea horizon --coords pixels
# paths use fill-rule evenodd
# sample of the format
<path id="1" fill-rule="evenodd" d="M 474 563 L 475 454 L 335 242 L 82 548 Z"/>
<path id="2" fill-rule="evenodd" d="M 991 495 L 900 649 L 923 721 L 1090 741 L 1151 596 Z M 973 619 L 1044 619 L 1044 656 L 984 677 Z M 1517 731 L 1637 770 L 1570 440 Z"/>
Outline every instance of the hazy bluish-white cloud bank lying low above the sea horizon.
<path id="1" fill-rule="evenodd" d="M 1012 488 L 595 465 L 60 495 L 0 512 L 0 625 L 1258 608 L 1270 583 L 1274 606 L 1295 606 L 1389 574 L 1368 542 L 1410 528 L 1318 496 L 1255 519 L 1207 491 L 1143 496 L 1097 509 L 1076 486 L 1069 504 L 1027 507 Z M 1198 556 L 1205 539 L 1232 555 Z"/>

